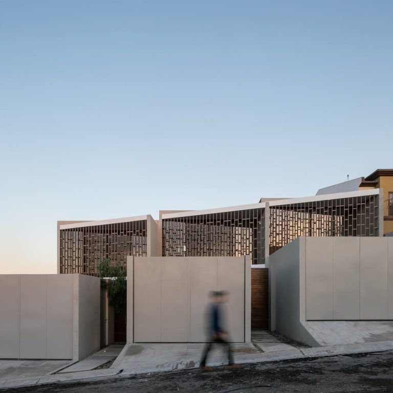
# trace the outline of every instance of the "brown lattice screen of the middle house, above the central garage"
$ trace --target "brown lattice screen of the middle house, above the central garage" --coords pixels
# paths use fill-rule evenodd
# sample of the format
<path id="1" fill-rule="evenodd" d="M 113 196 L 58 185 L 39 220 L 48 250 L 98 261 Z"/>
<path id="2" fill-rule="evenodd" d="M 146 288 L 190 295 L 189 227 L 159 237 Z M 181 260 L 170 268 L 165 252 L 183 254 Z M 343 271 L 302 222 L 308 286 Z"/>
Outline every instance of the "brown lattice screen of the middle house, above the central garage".
<path id="1" fill-rule="evenodd" d="M 265 209 L 201 214 L 162 221 L 163 256 L 245 256 L 265 260 Z"/>

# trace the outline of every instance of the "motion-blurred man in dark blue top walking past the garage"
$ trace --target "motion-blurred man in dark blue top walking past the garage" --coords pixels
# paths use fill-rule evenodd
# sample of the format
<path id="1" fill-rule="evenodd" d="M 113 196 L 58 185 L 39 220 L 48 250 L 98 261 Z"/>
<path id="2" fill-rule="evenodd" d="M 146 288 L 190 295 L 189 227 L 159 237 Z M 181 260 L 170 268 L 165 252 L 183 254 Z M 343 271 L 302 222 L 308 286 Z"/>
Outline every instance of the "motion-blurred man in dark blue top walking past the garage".
<path id="1" fill-rule="evenodd" d="M 204 371 L 210 371 L 211 368 L 206 366 L 206 359 L 213 344 L 224 344 L 228 351 L 228 364 L 230 368 L 238 368 L 234 363 L 232 355 L 232 346 L 228 341 L 228 332 L 222 327 L 222 303 L 227 301 L 228 295 L 225 291 L 212 291 L 209 294 L 210 302 L 207 313 L 208 318 L 208 342 L 202 354 L 200 367 Z"/>

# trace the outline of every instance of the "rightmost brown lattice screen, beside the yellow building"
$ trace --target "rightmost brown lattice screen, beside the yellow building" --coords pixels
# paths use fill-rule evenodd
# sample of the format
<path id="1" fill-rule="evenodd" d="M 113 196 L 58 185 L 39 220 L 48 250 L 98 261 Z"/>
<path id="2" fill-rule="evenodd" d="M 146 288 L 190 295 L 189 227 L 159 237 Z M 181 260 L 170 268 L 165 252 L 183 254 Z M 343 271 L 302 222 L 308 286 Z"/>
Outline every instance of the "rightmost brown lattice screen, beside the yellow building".
<path id="1" fill-rule="evenodd" d="M 378 236 L 379 196 L 271 206 L 269 253 L 298 236 Z"/>

